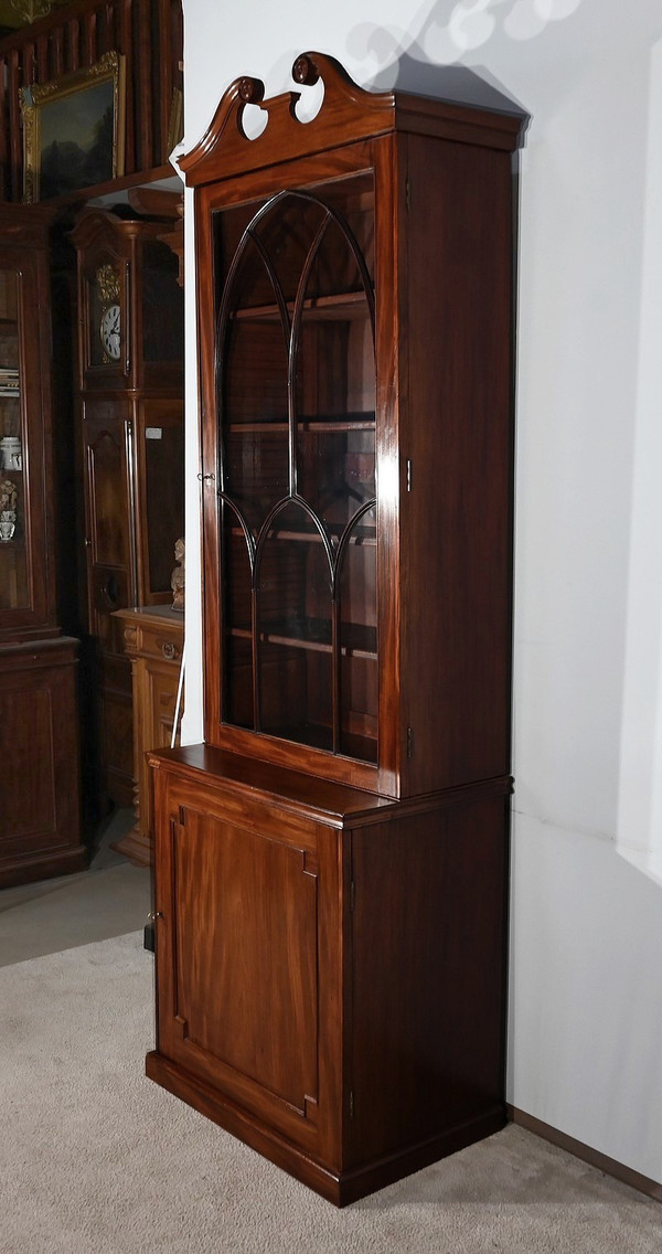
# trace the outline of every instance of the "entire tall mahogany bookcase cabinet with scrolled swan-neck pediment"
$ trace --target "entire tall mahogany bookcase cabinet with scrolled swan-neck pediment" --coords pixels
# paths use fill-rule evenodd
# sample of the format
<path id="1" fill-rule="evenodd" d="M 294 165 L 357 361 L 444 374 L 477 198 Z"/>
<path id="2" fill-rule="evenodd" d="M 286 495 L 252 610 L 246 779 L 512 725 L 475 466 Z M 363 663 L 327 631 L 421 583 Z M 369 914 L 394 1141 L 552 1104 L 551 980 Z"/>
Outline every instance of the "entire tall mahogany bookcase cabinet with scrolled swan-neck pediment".
<path id="1" fill-rule="evenodd" d="M 293 75 L 313 120 L 241 79 L 182 159 L 206 742 L 152 755 L 147 1066 L 342 1205 L 504 1122 L 522 119 Z"/>

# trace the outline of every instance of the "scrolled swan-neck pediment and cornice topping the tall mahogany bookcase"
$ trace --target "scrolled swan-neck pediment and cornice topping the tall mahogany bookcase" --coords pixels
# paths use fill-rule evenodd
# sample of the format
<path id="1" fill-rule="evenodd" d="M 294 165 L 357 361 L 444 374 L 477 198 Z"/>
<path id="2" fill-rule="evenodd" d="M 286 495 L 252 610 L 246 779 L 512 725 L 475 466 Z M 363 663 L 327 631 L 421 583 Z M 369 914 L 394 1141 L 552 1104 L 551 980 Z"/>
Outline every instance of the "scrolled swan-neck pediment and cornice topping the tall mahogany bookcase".
<path id="1" fill-rule="evenodd" d="M 523 130 L 522 113 L 458 104 L 401 92 L 366 92 L 339 61 L 321 53 L 303 53 L 292 66 L 301 85 L 323 83 L 323 100 L 311 120 L 298 117 L 298 92 L 263 99 L 260 79 L 236 79 L 221 98 L 213 120 L 198 144 L 179 159 L 189 186 L 311 155 L 390 132 L 414 132 L 512 152 Z M 243 124 L 247 105 L 266 119 L 250 138 Z"/>

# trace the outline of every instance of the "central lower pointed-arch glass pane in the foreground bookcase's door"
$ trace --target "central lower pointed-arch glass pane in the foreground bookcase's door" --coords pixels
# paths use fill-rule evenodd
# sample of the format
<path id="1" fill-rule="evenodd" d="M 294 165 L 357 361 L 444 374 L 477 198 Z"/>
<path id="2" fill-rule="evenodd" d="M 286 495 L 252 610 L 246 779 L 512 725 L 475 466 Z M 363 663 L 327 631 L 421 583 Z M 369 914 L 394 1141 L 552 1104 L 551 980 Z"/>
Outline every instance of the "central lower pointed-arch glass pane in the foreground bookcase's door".
<path id="1" fill-rule="evenodd" d="M 256 582 L 261 730 L 332 749 L 331 568 L 300 505 L 277 515 Z"/>

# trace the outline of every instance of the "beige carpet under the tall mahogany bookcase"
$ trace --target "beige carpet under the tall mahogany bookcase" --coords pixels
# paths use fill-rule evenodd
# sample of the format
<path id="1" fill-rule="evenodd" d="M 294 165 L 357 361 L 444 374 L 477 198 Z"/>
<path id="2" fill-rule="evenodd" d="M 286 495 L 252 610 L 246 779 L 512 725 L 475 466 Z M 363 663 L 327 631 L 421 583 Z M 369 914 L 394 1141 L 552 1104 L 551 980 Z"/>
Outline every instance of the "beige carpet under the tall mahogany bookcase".
<path id="1" fill-rule="evenodd" d="M 0 971 L 0 1249 L 659 1254 L 662 1208 L 518 1127 L 339 1211 L 143 1076 L 142 937 Z"/>

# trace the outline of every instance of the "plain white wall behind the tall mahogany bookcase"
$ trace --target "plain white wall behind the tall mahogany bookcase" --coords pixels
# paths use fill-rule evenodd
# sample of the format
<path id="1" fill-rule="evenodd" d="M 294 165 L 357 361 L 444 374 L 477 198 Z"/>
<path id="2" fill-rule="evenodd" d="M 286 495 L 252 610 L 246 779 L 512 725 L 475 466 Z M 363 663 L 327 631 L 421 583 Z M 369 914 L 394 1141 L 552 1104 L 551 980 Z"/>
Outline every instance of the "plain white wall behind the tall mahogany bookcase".
<path id="1" fill-rule="evenodd" d="M 184 0 L 186 145 L 320 49 L 532 115 L 522 159 L 509 1100 L 662 1181 L 658 0 Z M 443 66 L 453 66 L 444 69 Z M 191 251 L 188 273 L 193 270 Z M 201 735 L 193 285 L 187 724 Z M 627 861 L 622 853 L 631 854 Z M 641 869 L 638 869 L 641 868 Z M 654 867 L 653 867 L 654 870 Z"/>

